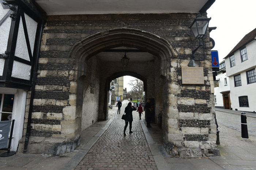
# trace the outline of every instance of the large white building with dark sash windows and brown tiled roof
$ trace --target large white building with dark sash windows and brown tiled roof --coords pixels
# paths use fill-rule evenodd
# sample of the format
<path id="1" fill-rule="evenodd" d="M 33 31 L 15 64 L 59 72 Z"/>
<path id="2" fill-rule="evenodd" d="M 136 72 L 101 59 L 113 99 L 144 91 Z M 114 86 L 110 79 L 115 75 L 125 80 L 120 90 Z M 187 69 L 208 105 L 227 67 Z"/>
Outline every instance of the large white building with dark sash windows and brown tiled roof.
<path id="1" fill-rule="evenodd" d="M 256 111 L 256 28 L 225 57 L 232 110 Z"/>

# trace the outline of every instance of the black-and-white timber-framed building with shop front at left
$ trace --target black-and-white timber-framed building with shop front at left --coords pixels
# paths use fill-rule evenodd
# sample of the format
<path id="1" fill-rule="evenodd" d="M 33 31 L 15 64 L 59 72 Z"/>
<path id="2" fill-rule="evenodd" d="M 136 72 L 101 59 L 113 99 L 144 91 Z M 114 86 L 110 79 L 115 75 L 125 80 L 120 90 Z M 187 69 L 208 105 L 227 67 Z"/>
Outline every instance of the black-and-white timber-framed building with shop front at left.
<path id="1" fill-rule="evenodd" d="M 25 3 L 0 0 L 0 121 L 15 120 L 11 151 L 17 150 L 27 123 L 41 21 Z"/>

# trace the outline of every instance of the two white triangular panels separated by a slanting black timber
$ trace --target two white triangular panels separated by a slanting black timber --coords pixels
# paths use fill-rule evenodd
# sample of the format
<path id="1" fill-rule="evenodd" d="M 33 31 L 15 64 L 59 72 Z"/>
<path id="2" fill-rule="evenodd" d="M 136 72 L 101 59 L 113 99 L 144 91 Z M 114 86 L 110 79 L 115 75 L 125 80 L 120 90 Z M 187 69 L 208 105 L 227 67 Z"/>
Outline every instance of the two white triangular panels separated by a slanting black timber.
<path id="1" fill-rule="evenodd" d="M 25 13 L 25 20 L 27 25 L 27 31 L 29 34 L 29 43 L 30 43 L 31 53 L 33 54 L 34 43 L 35 43 L 35 33 L 37 31 L 37 22 L 31 19 L 28 15 L 26 15 L 26 13 Z M 30 61 L 21 17 L 20 17 L 15 56 Z"/>

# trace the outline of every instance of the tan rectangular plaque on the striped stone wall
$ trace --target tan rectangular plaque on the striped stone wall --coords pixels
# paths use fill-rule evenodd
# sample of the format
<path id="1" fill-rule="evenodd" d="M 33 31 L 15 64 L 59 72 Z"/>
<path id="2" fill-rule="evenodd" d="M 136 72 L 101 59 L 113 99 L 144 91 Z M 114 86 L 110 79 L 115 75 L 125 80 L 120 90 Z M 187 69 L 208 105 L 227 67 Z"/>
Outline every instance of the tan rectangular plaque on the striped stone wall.
<path id="1" fill-rule="evenodd" d="M 182 67 L 182 84 L 204 84 L 203 67 Z"/>

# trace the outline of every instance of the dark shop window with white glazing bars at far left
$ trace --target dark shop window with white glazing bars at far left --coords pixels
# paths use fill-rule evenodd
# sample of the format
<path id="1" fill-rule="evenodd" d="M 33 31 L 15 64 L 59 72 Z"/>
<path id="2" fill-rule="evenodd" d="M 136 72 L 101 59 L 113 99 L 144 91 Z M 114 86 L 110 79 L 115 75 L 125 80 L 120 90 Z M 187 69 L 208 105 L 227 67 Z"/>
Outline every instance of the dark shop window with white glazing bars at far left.
<path id="1" fill-rule="evenodd" d="M 14 94 L 0 94 L 1 121 L 12 119 L 13 104 L 14 104 Z"/>

